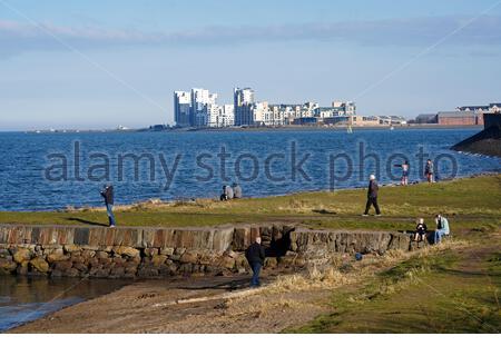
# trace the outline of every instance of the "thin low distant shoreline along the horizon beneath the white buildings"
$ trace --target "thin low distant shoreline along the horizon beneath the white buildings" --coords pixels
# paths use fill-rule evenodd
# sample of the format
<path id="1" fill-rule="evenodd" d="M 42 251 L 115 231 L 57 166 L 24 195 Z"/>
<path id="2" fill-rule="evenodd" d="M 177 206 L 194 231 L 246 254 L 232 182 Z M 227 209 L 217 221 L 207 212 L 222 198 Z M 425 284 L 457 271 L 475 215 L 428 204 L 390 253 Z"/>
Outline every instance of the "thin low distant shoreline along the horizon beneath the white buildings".
<path id="1" fill-rule="evenodd" d="M 458 130 L 458 129 L 479 129 L 482 130 L 483 126 L 471 126 L 471 125 L 406 125 L 406 126 L 352 126 L 353 131 L 367 131 L 367 130 L 429 130 L 429 129 L 441 129 L 441 130 Z M 256 131 L 346 131 L 347 126 L 334 126 L 334 127 L 316 127 L 316 126 L 301 126 L 301 125 L 288 125 L 278 127 L 218 127 L 218 128 L 168 128 L 165 130 L 150 130 L 150 129 L 129 129 L 129 130 L 115 130 L 115 129 L 58 129 L 56 131 L 51 130 L 21 130 L 21 131 L 0 131 L 0 134 L 26 134 L 26 135 L 65 135 L 65 134 L 143 134 L 143 132 L 256 132 Z"/>

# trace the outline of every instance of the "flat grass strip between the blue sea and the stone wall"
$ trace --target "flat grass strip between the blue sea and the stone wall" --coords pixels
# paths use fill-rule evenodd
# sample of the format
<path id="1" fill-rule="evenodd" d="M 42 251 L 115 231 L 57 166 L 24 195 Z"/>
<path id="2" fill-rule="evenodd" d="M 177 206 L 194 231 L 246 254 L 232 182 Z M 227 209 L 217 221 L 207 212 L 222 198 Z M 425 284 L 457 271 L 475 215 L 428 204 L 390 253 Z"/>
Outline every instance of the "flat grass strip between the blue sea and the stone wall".
<path id="1" fill-rule="evenodd" d="M 453 228 L 492 229 L 501 225 L 501 175 L 435 185 L 383 187 L 382 218 L 362 218 L 365 190 L 304 192 L 227 202 L 197 200 L 169 205 L 137 205 L 117 209 L 121 226 L 215 226 L 235 222 L 291 221 L 314 228 L 412 229 L 418 217 L 432 226 L 439 211 Z M 106 224 L 104 210 L 0 212 L 0 224 Z"/>

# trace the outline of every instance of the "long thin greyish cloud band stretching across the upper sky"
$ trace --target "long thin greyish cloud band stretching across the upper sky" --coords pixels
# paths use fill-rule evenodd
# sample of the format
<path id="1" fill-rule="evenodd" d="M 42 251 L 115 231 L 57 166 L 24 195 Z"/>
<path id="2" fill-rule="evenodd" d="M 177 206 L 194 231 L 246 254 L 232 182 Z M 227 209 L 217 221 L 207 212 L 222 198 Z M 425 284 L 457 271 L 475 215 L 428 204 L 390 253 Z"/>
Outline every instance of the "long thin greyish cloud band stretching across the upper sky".
<path id="1" fill-rule="evenodd" d="M 214 26 L 173 32 L 110 30 L 99 27 L 37 26 L 0 20 L 0 56 L 33 50 L 134 46 L 235 46 L 250 42 L 325 41 L 361 46 L 426 46 L 468 23 L 468 18 L 428 17 L 376 21 L 288 23 L 277 26 Z M 501 17 L 484 16 L 469 23 L 444 44 L 500 44 Z"/>

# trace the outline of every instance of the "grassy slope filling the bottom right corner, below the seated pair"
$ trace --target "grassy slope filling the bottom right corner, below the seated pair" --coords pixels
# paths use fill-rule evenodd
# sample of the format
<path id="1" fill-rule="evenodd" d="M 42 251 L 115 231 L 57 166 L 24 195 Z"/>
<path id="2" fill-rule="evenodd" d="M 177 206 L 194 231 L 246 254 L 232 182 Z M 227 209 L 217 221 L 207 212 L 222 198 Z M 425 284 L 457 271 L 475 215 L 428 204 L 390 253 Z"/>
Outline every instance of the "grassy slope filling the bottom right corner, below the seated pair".
<path id="1" fill-rule="evenodd" d="M 500 333 L 501 239 L 469 238 L 333 293 L 332 312 L 288 333 Z"/>

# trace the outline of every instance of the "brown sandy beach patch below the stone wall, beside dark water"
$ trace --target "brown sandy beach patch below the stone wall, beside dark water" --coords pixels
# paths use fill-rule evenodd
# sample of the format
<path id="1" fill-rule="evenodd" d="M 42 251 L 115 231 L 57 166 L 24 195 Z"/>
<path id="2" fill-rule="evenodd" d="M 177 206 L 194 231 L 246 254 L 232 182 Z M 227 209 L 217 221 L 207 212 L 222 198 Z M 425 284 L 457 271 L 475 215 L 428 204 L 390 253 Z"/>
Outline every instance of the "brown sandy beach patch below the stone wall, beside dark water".
<path id="1" fill-rule="evenodd" d="M 294 293 L 284 300 L 255 293 L 248 281 L 246 275 L 136 281 L 9 333 L 278 333 L 326 308 L 326 293 Z"/>

